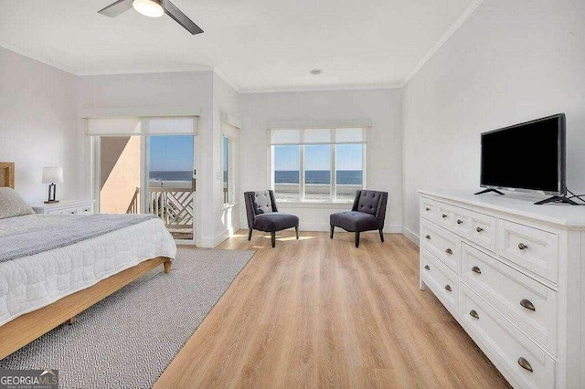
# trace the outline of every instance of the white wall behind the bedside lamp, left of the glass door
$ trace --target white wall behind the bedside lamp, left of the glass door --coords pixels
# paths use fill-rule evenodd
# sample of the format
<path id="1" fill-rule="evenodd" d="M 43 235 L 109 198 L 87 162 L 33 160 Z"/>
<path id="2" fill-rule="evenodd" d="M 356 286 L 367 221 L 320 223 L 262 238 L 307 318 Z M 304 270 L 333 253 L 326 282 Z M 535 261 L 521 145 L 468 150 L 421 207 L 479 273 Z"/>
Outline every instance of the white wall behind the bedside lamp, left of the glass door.
<path id="1" fill-rule="evenodd" d="M 77 78 L 0 47 L 0 161 L 16 163 L 16 190 L 29 203 L 46 200 L 43 166 L 63 166 L 58 198 L 79 187 Z"/>

